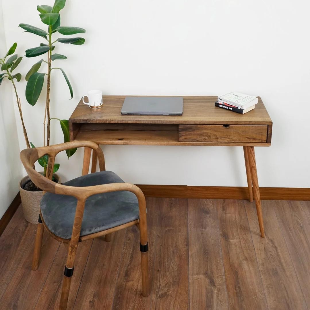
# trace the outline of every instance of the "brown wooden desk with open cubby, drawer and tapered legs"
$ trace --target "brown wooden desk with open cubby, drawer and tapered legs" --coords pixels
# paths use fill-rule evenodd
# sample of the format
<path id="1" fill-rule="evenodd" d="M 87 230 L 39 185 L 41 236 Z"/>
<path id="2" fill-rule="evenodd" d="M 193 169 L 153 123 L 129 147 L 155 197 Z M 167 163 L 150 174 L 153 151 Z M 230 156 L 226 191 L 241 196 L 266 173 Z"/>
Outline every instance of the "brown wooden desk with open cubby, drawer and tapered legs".
<path id="1" fill-rule="evenodd" d="M 249 199 L 253 192 L 264 237 L 255 146 L 270 146 L 272 121 L 259 98 L 255 109 L 238 114 L 214 106 L 217 97 L 185 96 L 183 115 L 122 115 L 125 96 L 103 96 L 103 107 L 90 109 L 82 100 L 69 119 L 71 140 L 97 144 L 242 146 Z M 90 151 L 84 160 L 90 161 Z M 92 171 L 95 167 L 92 162 Z M 252 184 L 254 191 L 252 190 Z"/>

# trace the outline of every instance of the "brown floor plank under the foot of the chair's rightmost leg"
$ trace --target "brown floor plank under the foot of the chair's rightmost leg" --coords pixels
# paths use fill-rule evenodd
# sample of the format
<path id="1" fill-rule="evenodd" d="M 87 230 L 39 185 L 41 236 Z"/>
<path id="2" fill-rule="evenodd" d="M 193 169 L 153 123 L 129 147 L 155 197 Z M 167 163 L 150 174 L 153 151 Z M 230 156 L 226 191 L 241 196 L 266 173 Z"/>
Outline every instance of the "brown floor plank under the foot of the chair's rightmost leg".
<path id="1" fill-rule="evenodd" d="M 113 309 L 152 309 L 155 304 L 156 289 L 154 289 L 155 261 L 157 243 L 160 238 L 160 205 L 162 199 L 147 198 L 148 209 L 148 269 L 150 278 L 150 296 L 143 297 L 141 281 L 141 260 L 139 251 L 139 231 L 127 229 L 120 272 L 117 279 L 113 301 Z"/>

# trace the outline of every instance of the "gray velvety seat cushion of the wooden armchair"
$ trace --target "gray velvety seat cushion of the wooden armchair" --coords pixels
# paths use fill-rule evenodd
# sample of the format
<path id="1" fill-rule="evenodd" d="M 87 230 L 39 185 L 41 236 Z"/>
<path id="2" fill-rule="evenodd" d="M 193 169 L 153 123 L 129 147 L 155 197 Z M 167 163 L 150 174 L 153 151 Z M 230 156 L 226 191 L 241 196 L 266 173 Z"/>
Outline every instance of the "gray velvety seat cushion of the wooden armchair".
<path id="1" fill-rule="evenodd" d="M 100 171 L 70 180 L 64 185 L 92 186 L 124 183 L 112 171 Z M 48 229 L 56 236 L 71 238 L 77 199 L 72 196 L 46 193 L 41 200 L 41 213 Z M 96 194 L 85 203 L 81 236 L 113 228 L 139 219 L 139 205 L 134 193 L 118 191 Z"/>

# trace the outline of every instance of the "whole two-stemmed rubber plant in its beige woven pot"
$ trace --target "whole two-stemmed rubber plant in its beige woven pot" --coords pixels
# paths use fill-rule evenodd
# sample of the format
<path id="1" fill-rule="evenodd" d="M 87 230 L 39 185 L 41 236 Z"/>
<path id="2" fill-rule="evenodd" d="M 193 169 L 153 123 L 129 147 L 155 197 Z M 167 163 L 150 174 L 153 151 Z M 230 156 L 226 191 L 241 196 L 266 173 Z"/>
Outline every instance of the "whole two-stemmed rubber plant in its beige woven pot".
<path id="1" fill-rule="evenodd" d="M 61 120 L 55 117 L 50 117 L 50 91 L 51 91 L 51 71 L 53 69 L 59 69 L 64 76 L 65 81 L 67 82 L 67 85 L 69 87 L 71 99 L 73 97 L 73 90 L 71 87 L 71 84 L 69 82 L 69 79 L 64 72 L 63 69 L 58 67 L 52 68 L 52 62 L 54 60 L 65 60 L 67 59 L 66 56 L 53 53 L 52 51 L 55 48 L 55 43 L 65 43 L 65 44 L 73 44 L 73 45 L 81 45 L 85 42 L 84 38 L 58 38 L 55 41 L 52 41 L 52 34 L 53 33 L 60 33 L 62 35 L 71 35 L 76 33 L 84 33 L 85 29 L 79 28 L 79 27 L 61 27 L 60 26 L 60 10 L 64 8 L 65 0 L 55 0 L 55 3 L 53 7 L 48 5 L 41 5 L 37 6 L 37 10 L 39 11 L 39 16 L 41 18 L 41 21 L 43 24 L 46 24 L 48 26 L 47 32 L 43 29 L 40 29 L 38 27 L 31 26 L 29 24 L 20 24 L 19 26 L 25 30 L 25 32 L 33 33 L 45 40 L 47 40 L 47 43 L 41 43 L 40 46 L 30 48 L 26 50 L 26 57 L 36 57 L 38 55 L 47 54 L 47 60 L 41 59 L 38 62 L 36 62 L 29 72 L 26 74 L 25 79 L 27 81 L 26 86 L 26 100 L 29 104 L 34 106 L 41 94 L 42 87 L 44 84 L 44 78 L 45 75 L 47 76 L 47 92 L 46 92 L 46 102 L 45 102 L 45 113 L 44 113 L 44 146 L 50 144 L 50 121 L 52 119 L 56 119 L 60 122 L 61 129 L 64 134 L 64 142 L 69 141 L 69 126 L 68 126 L 68 120 Z M 24 125 L 24 120 L 22 116 L 22 110 L 20 105 L 20 99 L 17 95 L 17 90 L 15 87 L 15 83 L 13 79 L 16 79 L 17 82 L 21 79 L 21 74 L 13 74 L 12 71 L 17 67 L 17 65 L 22 60 L 22 57 L 17 58 L 17 54 L 11 56 L 7 59 L 9 55 L 12 55 L 15 52 L 17 44 L 14 43 L 13 46 L 10 48 L 10 50 L 7 52 L 7 55 L 4 57 L 3 60 L 0 60 L 1 69 L 4 71 L 3 74 L 0 74 L 0 84 L 4 78 L 8 78 L 11 80 L 14 91 L 16 95 L 16 101 L 20 112 L 20 118 L 24 130 L 24 137 L 26 141 L 26 146 L 28 148 L 34 147 L 33 143 L 29 143 L 27 131 Z M 7 60 L 7 61 L 6 61 Z M 39 73 L 38 70 L 41 67 L 42 63 L 47 64 L 47 73 Z M 47 123 L 46 123 L 47 121 Z M 68 159 L 71 157 L 76 151 L 76 148 L 66 150 Z M 47 169 L 47 162 L 48 162 L 48 156 L 42 156 L 38 159 L 38 163 L 43 167 L 42 174 L 46 174 Z M 53 180 L 55 182 L 60 183 L 60 177 L 55 174 L 55 172 L 59 169 L 59 164 L 54 165 L 54 175 Z M 34 168 L 34 167 L 33 167 Z M 31 223 L 38 223 L 38 215 L 40 210 L 40 201 L 43 196 L 43 191 L 40 188 L 37 188 L 35 184 L 29 179 L 28 176 L 24 177 L 20 181 L 20 195 L 22 199 L 22 206 L 24 211 L 25 219 Z"/>

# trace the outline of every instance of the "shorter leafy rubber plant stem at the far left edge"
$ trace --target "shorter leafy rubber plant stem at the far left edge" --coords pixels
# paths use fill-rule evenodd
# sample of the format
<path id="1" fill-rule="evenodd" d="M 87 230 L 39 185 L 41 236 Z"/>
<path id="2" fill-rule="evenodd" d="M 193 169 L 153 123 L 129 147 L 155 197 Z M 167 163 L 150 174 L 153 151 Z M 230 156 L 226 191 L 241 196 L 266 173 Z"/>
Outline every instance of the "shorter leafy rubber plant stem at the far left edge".
<path id="1" fill-rule="evenodd" d="M 18 57 L 17 54 L 14 54 L 16 47 L 17 47 L 17 43 L 15 42 L 10 47 L 10 49 L 8 50 L 8 52 L 4 56 L 4 58 L 0 58 L 1 72 L 4 72 L 4 73 L 0 73 L 0 85 L 3 81 L 3 79 L 5 79 L 5 78 L 8 78 L 13 84 L 14 92 L 15 92 L 15 96 L 16 96 L 16 103 L 17 103 L 17 107 L 18 107 L 18 110 L 20 113 L 20 120 L 21 120 L 21 124 L 23 126 L 25 142 L 26 142 L 27 148 L 30 148 L 27 131 L 26 131 L 26 127 L 24 124 L 23 113 L 21 110 L 20 98 L 17 94 L 17 90 L 16 90 L 16 86 L 15 86 L 15 82 L 14 82 L 14 79 L 16 79 L 16 82 L 19 82 L 21 80 L 21 74 L 20 73 L 13 73 L 13 71 L 16 69 L 16 67 L 20 64 L 21 60 L 23 59 L 23 57 Z M 12 54 L 14 54 L 14 55 L 12 55 Z M 10 55 L 12 55 L 12 56 L 7 58 Z"/>

